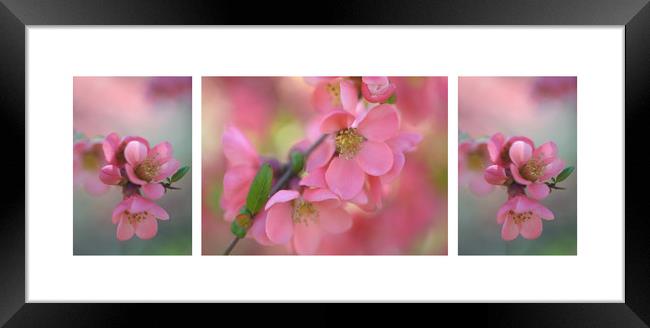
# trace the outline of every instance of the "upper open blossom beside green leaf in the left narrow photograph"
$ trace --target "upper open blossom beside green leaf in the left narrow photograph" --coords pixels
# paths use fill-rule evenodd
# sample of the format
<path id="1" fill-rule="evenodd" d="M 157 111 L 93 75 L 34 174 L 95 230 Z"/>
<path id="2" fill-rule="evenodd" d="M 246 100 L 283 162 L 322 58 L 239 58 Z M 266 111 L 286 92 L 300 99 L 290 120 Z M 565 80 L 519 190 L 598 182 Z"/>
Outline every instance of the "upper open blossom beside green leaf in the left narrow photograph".
<path id="1" fill-rule="evenodd" d="M 158 199 L 165 194 L 161 182 L 180 167 L 180 162 L 173 157 L 169 142 L 161 142 L 149 149 L 148 144 L 133 140 L 124 149 L 124 157 L 129 180 L 142 186 L 145 196 L 151 199 Z"/>

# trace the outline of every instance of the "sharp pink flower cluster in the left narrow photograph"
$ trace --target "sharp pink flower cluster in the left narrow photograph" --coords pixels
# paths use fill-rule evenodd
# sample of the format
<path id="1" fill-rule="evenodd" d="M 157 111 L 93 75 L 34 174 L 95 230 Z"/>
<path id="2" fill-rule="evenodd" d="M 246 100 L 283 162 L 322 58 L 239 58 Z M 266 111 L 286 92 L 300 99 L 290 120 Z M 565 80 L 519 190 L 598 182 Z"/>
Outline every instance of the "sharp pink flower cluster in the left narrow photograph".
<path id="1" fill-rule="evenodd" d="M 111 133 L 102 144 L 104 165 L 99 179 L 106 185 L 120 186 L 123 200 L 115 207 L 113 224 L 117 239 L 129 240 L 133 235 L 151 239 L 158 232 L 157 219 L 168 220 L 169 214 L 153 200 L 160 199 L 170 178 L 180 167 L 173 157 L 169 142 L 153 148 L 142 137 L 120 138 Z"/>

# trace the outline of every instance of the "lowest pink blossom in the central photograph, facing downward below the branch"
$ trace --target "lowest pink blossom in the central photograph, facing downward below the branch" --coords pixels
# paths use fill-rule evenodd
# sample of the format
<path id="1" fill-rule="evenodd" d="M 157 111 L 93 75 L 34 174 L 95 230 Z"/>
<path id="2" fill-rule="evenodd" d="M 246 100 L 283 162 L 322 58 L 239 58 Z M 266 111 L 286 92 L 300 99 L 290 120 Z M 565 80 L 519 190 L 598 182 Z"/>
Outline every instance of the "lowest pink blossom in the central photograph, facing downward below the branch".
<path id="1" fill-rule="evenodd" d="M 298 254 L 313 254 L 321 234 L 342 233 L 352 219 L 341 201 L 327 189 L 280 190 L 266 203 L 266 235 L 274 244 L 287 244 Z"/>

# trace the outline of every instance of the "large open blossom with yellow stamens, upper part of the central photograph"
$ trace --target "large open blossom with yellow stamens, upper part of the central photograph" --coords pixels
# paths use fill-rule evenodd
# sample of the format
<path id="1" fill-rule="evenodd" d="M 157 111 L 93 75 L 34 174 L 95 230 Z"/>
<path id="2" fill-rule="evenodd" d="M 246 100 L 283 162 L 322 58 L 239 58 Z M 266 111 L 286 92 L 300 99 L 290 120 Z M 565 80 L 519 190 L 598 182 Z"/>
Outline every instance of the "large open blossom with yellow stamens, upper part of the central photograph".
<path id="1" fill-rule="evenodd" d="M 325 172 L 329 189 L 341 199 L 350 200 L 363 189 L 366 175 L 387 174 L 395 162 L 394 151 L 387 142 L 398 136 L 399 126 L 397 109 L 387 104 L 357 109 L 356 115 L 349 111 L 325 115 L 320 131 L 330 136 L 323 146 L 328 151 L 324 158 L 334 156 Z M 327 160 L 321 159 L 320 163 Z"/>

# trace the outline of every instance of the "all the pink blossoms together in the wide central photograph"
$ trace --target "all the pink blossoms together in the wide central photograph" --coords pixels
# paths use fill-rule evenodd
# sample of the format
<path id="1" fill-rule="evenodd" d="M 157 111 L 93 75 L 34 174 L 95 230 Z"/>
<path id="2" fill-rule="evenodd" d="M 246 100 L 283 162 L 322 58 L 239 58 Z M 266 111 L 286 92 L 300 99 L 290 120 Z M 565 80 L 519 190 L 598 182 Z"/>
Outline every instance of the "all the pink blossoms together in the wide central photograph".
<path id="1" fill-rule="evenodd" d="M 323 233 L 350 229 L 350 204 L 379 210 L 384 192 L 404 167 L 405 153 L 421 141 L 419 134 L 401 130 L 400 114 L 388 102 L 395 91 L 389 78 L 306 81 L 315 87 L 312 103 L 319 114 L 306 140 L 294 149 L 305 151 L 321 142 L 308 155 L 304 173 L 271 195 L 247 234 L 262 245 L 286 245 L 298 254 L 315 253 Z M 233 126 L 224 132 L 222 144 L 228 168 L 221 206 L 225 219 L 232 221 L 259 167 L 271 164 L 276 178 L 283 167 L 262 159 Z"/>

